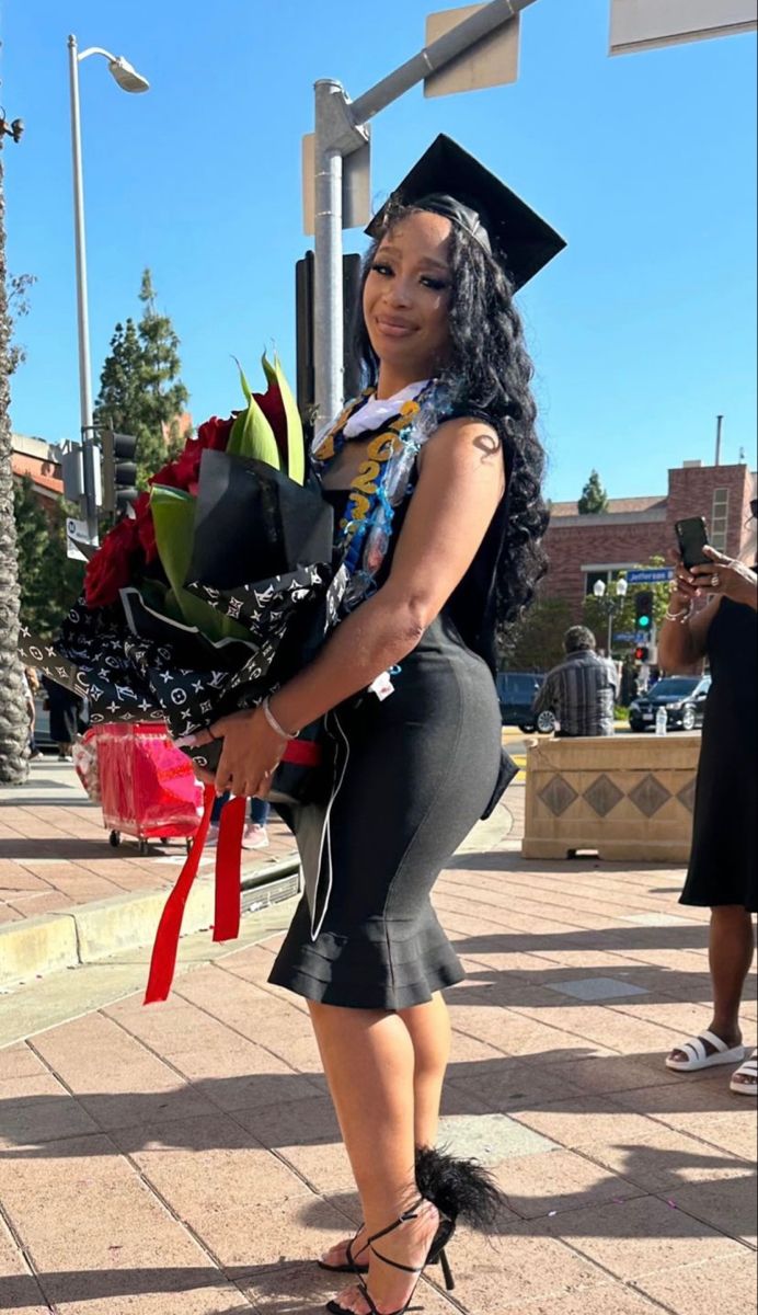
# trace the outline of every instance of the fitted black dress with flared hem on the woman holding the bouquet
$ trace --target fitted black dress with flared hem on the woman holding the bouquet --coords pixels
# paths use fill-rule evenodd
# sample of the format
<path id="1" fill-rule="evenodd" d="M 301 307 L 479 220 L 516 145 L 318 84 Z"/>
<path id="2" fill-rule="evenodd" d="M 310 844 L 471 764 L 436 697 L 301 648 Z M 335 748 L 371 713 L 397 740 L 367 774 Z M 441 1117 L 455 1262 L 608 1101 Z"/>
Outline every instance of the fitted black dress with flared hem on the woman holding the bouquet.
<path id="1" fill-rule="evenodd" d="M 344 508 L 344 492 L 324 494 Z M 377 584 L 406 510 L 407 501 Z M 307 999 L 401 1010 L 465 976 L 430 894 L 510 775 L 489 660 L 504 514 L 502 506 L 465 580 L 391 676 L 394 692 L 384 701 L 364 693 L 328 714 L 346 752 L 317 836 L 318 893 L 298 905 L 269 977 Z M 286 815 L 303 860 L 321 826 L 311 813 Z"/>

